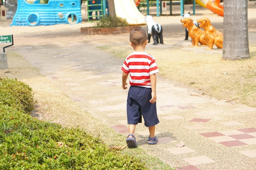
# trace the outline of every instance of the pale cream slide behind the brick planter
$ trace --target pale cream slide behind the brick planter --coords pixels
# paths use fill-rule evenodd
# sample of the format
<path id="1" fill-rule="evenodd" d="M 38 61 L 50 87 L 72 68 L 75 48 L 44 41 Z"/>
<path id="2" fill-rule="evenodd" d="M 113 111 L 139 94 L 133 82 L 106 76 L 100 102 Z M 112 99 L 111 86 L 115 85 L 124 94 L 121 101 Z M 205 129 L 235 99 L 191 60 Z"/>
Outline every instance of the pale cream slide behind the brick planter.
<path id="1" fill-rule="evenodd" d="M 114 0 L 116 15 L 127 20 L 129 25 L 146 24 L 145 16 L 137 9 L 133 0 Z"/>

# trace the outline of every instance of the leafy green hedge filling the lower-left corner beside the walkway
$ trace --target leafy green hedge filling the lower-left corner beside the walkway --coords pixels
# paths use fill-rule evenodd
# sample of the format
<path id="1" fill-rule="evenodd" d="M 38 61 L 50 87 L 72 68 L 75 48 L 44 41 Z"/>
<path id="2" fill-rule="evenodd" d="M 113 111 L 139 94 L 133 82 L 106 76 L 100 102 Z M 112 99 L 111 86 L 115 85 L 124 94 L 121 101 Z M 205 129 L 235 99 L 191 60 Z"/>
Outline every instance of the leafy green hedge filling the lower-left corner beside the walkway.
<path id="1" fill-rule="evenodd" d="M 4 82 L 4 83 L 3 83 Z M 12 85 L 7 85 L 8 83 Z M 15 91 L 6 90 L 10 87 Z M 147 170 L 136 157 L 112 150 L 78 128 L 39 121 L 26 114 L 31 88 L 16 79 L 1 79 L 0 170 Z M 20 88 L 22 86 L 22 88 Z M 15 90 L 14 90 L 15 89 Z M 17 89 L 25 93 L 18 93 Z M 21 94 L 21 96 L 16 96 Z M 2 97 L 10 97 L 8 100 Z M 33 96 L 32 93 L 28 96 Z M 16 101 L 16 98 L 19 102 Z M 24 99 L 24 100 L 23 100 Z M 29 101 L 26 101 L 28 99 Z M 22 100 L 22 102 L 20 102 Z M 11 103 L 14 102 L 14 103 Z M 18 108 L 18 107 L 21 108 Z M 60 147 L 58 142 L 62 142 Z"/>

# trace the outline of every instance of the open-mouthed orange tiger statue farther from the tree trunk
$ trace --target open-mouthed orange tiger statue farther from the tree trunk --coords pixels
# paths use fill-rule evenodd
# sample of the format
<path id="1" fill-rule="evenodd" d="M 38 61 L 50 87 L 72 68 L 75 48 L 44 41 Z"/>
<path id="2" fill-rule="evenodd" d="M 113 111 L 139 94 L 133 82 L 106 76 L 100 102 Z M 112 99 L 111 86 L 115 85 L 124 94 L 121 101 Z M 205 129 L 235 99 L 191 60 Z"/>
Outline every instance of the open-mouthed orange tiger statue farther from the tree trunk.
<path id="1" fill-rule="evenodd" d="M 192 39 L 192 46 L 198 47 L 198 43 L 208 46 L 208 41 L 205 37 L 204 30 L 195 26 L 191 18 L 182 18 L 180 22 L 184 23 L 182 26 L 189 30 L 189 36 Z"/>

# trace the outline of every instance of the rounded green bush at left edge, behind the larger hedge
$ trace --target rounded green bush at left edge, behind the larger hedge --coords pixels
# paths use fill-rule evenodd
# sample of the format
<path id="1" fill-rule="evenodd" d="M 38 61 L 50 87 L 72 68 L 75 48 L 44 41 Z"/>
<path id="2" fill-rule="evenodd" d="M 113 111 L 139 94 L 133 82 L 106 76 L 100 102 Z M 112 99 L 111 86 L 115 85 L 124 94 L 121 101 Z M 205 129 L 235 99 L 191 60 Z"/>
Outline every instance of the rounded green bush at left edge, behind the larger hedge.
<path id="1" fill-rule="evenodd" d="M 6 104 L 26 113 L 34 109 L 32 88 L 17 79 L 0 77 L 0 104 Z"/>

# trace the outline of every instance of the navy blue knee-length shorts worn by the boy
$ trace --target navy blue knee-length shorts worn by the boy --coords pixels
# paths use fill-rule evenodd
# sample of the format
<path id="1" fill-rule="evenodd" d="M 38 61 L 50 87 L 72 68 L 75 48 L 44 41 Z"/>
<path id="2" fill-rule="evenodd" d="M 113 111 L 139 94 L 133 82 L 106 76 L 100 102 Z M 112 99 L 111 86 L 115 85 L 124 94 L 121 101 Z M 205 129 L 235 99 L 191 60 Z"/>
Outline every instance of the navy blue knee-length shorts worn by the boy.
<path id="1" fill-rule="evenodd" d="M 159 123 L 156 103 L 149 102 L 151 88 L 130 86 L 127 97 L 127 120 L 128 124 L 141 123 L 141 115 L 145 126 L 151 127 Z"/>

